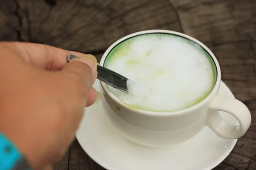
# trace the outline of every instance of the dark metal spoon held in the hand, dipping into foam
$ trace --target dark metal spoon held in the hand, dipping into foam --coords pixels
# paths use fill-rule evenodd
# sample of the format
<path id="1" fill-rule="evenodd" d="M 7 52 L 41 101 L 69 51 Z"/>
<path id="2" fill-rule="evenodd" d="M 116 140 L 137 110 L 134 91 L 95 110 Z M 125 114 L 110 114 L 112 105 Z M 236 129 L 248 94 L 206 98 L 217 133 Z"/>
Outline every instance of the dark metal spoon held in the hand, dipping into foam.
<path id="1" fill-rule="evenodd" d="M 73 54 L 69 54 L 67 56 L 67 62 L 70 62 L 70 60 L 73 58 L 79 58 L 79 57 Z M 120 91 L 124 91 L 126 93 L 128 92 L 127 84 L 126 84 L 128 79 L 126 77 L 123 77 L 121 74 L 118 74 L 100 65 L 97 65 L 97 71 L 98 71 L 97 79 L 99 79 L 102 82 L 105 82 L 106 84 Z"/>

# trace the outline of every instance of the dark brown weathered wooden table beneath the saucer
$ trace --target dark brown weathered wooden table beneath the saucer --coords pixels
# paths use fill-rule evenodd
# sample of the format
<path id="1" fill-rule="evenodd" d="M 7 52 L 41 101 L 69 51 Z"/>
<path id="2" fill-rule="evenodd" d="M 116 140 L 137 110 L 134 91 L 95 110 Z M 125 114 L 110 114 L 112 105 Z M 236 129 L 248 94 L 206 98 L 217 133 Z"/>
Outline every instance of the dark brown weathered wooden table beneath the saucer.
<path id="1" fill-rule="evenodd" d="M 0 0 L 0 40 L 96 55 L 146 29 L 183 32 L 217 57 L 222 80 L 250 109 L 252 124 L 214 170 L 256 170 L 256 0 Z M 104 170 L 75 140 L 55 170 Z"/>

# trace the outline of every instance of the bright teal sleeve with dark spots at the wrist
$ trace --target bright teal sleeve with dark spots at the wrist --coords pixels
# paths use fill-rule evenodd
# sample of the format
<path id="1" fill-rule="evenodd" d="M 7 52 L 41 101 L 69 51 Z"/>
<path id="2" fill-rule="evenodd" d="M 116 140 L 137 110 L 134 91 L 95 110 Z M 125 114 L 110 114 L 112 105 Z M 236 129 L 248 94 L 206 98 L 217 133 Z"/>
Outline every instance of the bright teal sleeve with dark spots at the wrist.
<path id="1" fill-rule="evenodd" d="M 31 170 L 16 146 L 0 132 L 0 170 Z"/>

